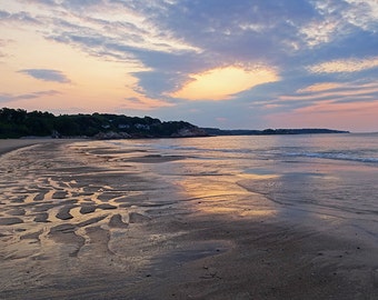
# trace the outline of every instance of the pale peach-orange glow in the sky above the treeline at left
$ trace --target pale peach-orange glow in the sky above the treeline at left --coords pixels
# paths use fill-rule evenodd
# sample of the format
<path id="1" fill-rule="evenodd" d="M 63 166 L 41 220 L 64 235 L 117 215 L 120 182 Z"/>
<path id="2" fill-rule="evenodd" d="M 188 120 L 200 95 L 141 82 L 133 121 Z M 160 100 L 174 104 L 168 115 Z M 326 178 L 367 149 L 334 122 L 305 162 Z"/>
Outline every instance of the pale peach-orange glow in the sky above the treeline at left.
<path id="1" fill-rule="evenodd" d="M 51 42 L 33 32 L 29 36 L 16 29 L 4 32 L 14 42 L 12 57 L 2 68 L 4 76 L 1 78 L 1 93 L 8 96 L 8 100 L 2 101 L 3 106 L 28 110 L 42 108 L 52 112 L 117 112 L 120 108 L 152 110 L 173 106 L 161 99 L 149 98 L 138 88 L 139 80 L 133 72 L 148 70 L 138 60 L 126 62 L 100 59 L 69 44 Z M 28 56 L 24 49 L 29 49 Z M 21 69 L 58 70 L 70 79 L 70 83 L 37 80 L 36 77 L 24 76 Z M 39 92 L 46 90 L 59 93 Z"/>

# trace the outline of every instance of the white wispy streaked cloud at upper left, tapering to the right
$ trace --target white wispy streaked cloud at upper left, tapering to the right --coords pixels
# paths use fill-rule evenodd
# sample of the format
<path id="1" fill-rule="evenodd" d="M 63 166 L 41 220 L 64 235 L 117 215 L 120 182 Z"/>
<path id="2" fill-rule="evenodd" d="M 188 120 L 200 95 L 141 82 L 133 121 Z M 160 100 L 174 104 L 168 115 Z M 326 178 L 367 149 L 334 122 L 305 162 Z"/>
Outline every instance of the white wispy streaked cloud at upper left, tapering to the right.
<path id="1" fill-rule="evenodd" d="M 49 38 L 76 43 L 87 51 L 90 44 L 123 46 L 127 52 L 132 52 L 130 50 L 135 49 L 168 53 L 200 51 L 180 38 L 173 37 L 171 31 L 161 30 L 128 2 L 63 1 L 56 7 L 67 10 L 69 14 L 66 13 L 63 19 L 59 16 L 54 18 L 54 23 L 60 27 L 53 28 Z M 90 42 L 91 38 L 94 43 Z"/>

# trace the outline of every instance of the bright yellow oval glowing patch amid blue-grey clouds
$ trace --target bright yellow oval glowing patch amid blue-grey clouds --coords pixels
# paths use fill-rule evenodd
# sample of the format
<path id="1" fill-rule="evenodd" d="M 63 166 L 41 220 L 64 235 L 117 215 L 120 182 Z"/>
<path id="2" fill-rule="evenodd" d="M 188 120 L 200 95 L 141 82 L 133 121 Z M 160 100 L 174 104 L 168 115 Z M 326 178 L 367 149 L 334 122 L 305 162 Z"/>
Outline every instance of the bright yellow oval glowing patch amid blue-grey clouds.
<path id="1" fill-rule="evenodd" d="M 190 78 L 191 81 L 170 96 L 188 100 L 228 100 L 238 92 L 280 79 L 277 71 L 269 67 L 250 70 L 238 67 L 217 68 Z"/>

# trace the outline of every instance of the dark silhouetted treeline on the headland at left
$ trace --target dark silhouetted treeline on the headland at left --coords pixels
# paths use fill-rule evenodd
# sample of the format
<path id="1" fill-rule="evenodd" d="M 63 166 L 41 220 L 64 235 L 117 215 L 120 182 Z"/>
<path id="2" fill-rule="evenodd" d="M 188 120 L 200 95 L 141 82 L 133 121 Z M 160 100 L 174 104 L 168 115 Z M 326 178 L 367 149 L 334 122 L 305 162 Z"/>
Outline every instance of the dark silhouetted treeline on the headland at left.
<path id="1" fill-rule="evenodd" d="M 60 114 L 23 109 L 0 109 L 0 138 L 159 138 L 207 136 L 198 127 L 183 121 L 162 122 L 150 117 L 123 114 Z"/>

